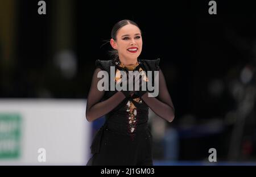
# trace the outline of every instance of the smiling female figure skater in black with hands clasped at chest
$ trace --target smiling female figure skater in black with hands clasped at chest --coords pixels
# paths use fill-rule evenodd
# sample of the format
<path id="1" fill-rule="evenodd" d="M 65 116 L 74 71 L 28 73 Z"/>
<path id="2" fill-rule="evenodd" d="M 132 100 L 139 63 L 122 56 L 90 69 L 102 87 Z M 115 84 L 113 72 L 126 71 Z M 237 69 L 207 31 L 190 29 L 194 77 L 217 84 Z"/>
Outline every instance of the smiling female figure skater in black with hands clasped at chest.
<path id="1" fill-rule="evenodd" d="M 138 59 L 142 51 L 142 35 L 138 25 L 131 20 L 121 20 L 114 25 L 110 44 L 116 56 L 112 60 L 96 61 L 86 104 L 88 121 L 104 115 L 106 117 L 105 124 L 97 132 L 90 147 L 93 156 L 87 165 L 153 165 L 148 107 L 168 122 L 174 120 L 175 115 L 164 75 L 159 69 L 160 59 Z M 110 78 L 110 66 L 114 66 L 115 78 Z M 100 91 L 97 83 L 102 78 L 98 78 L 97 74 L 102 70 L 108 71 L 109 81 L 113 79 L 115 84 L 123 79 L 120 71 L 126 71 L 127 75 L 129 71 L 159 71 L 159 94 L 150 97 L 149 91 L 142 89 Z M 147 81 L 147 78 L 143 79 Z"/>

